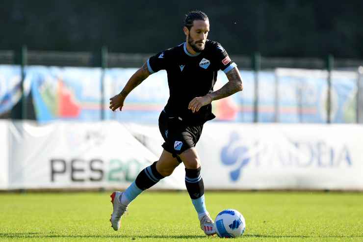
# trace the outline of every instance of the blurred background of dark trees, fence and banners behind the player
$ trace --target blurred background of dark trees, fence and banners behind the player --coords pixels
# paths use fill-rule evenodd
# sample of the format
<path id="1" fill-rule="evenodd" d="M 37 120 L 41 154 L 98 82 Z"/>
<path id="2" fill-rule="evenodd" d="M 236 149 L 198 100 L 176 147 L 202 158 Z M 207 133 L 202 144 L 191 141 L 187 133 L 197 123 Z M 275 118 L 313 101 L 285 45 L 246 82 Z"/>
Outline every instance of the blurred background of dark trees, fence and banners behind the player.
<path id="1" fill-rule="evenodd" d="M 108 99 L 185 41 L 194 9 L 244 82 L 213 102 L 198 144 L 206 188 L 363 189 L 361 0 L 1 1 L 0 188 L 126 187 L 157 160 L 166 72 L 122 112 Z M 215 89 L 227 81 L 220 72 Z M 216 169 L 224 175 L 208 180 Z M 180 177 L 159 188 L 184 189 Z"/>

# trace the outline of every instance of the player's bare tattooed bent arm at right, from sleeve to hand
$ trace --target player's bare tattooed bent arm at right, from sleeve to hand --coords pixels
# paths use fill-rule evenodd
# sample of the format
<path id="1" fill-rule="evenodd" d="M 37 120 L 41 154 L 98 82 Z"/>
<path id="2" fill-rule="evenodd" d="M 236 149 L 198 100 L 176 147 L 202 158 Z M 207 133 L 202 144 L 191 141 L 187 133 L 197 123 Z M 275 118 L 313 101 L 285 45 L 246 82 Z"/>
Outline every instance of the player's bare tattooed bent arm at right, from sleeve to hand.
<path id="1" fill-rule="evenodd" d="M 208 93 L 203 97 L 196 97 L 190 101 L 188 108 L 192 112 L 199 111 L 200 108 L 210 104 L 213 100 L 222 99 L 232 94 L 243 90 L 243 82 L 238 68 L 235 66 L 226 73 L 228 82 L 224 84 L 219 90 Z"/>

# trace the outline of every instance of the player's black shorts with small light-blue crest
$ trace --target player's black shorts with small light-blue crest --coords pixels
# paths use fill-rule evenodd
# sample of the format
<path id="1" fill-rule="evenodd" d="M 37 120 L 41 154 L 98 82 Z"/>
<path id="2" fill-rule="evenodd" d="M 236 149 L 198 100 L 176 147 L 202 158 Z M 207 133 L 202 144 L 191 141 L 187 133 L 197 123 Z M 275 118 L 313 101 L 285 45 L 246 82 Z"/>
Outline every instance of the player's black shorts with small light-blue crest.
<path id="1" fill-rule="evenodd" d="M 161 146 L 176 157 L 197 144 L 203 124 L 187 125 L 181 117 L 168 116 L 163 110 L 159 116 L 159 130 L 165 140 Z"/>

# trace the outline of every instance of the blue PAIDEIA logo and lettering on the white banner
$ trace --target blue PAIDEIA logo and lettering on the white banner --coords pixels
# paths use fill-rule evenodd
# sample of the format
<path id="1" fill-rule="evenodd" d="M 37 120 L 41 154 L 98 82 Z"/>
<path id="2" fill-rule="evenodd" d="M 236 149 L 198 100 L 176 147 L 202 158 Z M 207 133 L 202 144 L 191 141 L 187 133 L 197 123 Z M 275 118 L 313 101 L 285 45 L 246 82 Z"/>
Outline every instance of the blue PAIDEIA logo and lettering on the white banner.
<path id="1" fill-rule="evenodd" d="M 319 169 L 330 167 L 350 167 L 353 165 L 351 152 L 346 144 L 337 146 L 328 141 L 296 141 L 284 138 L 279 144 L 264 140 L 245 140 L 233 133 L 221 150 L 221 161 L 230 166 L 229 175 L 238 181 L 243 169 L 278 165 L 281 168 Z"/>

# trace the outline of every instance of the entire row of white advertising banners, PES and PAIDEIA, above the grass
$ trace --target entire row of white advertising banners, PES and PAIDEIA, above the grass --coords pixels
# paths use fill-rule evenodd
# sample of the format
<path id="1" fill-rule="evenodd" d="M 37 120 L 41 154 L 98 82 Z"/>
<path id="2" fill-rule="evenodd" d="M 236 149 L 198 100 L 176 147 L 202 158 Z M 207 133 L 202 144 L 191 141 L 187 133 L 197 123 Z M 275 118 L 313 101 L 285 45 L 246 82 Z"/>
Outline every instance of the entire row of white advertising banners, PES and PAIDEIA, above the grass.
<path id="1" fill-rule="evenodd" d="M 0 122 L 0 132 L 2 189 L 123 189 L 163 143 L 156 125 L 115 121 Z M 353 124 L 209 122 L 196 148 L 206 189 L 363 190 L 362 137 Z M 155 188 L 185 189 L 184 174 L 181 164 Z"/>

